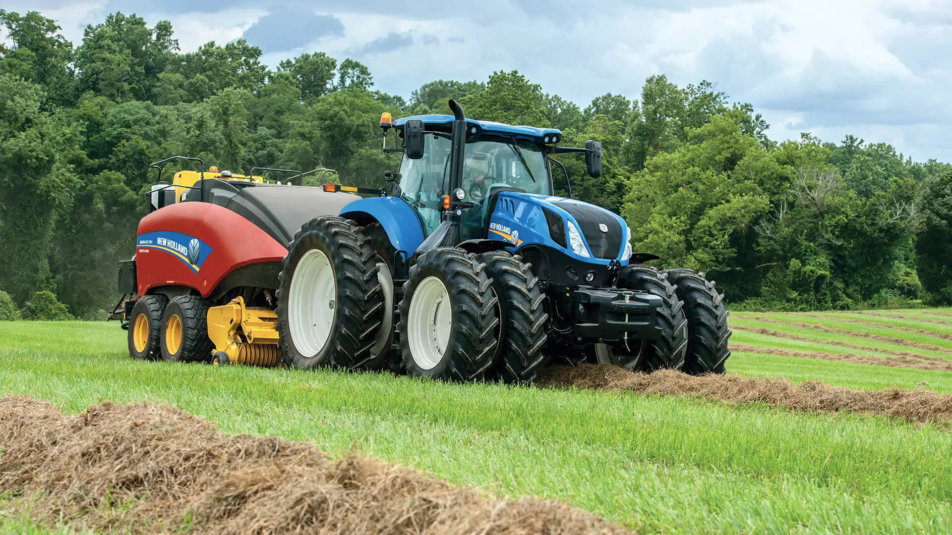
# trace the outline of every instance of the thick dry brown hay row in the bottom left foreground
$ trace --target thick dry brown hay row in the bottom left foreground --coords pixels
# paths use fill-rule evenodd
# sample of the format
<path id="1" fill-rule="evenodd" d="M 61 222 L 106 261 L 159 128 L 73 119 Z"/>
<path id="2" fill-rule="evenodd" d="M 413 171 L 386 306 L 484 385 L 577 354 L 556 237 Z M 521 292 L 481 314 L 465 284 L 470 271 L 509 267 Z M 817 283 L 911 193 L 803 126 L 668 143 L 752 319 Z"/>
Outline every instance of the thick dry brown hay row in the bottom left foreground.
<path id="1" fill-rule="evenodd" d="M 355 453 L 335 461 L 306 443 L 223 435 L 169 406 L 105 403 L 70 417 L 5 396 L 0 449 L 0 489 L 20 496 L 8 505 L 104 532 L 627 532 L 552 500 L 504 500 Z"/>

